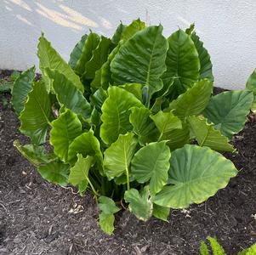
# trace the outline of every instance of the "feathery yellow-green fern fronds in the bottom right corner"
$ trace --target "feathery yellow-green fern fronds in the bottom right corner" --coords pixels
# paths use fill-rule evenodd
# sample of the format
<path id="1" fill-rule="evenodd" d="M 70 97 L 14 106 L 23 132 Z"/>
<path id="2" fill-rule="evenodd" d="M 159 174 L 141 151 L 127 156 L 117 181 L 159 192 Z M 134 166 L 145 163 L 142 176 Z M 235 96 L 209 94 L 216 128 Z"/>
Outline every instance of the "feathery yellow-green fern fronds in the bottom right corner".
<path id="1" fill-rule="evenodd" d="M 226 255 L 225 250 L 223 246 L 219 244 L 216 238 L 213 238 L 211 236 L 208 236 L 208 241 L 209 241 L 209 248 L 210 251 L 212 252 L 211 254 L 213 255 Z M 206 244 L 205 241 L 201 242 L 200 245 L 200 254 L 201 255 L 209 255 L 210 252 L 208 250 L 208 245 Z M 238 252 L 237 255 L 254 255 L 256 254 L 256 244 L 253 246 L 242 250 L 241 252 Z"/>

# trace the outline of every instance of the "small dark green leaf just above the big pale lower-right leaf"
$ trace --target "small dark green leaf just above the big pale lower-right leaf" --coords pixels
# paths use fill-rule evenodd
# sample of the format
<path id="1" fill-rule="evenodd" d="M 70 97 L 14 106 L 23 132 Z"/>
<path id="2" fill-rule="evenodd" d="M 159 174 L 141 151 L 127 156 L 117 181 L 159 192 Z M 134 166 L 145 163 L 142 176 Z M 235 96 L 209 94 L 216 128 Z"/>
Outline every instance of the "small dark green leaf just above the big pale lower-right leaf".
<path id="1" fill-rule="evenodd" d="M 190 142 L 190 129 L 182 123 L 182 129 L 174 129 L 168 133 L 168 146 L 170 150 L 176 150 Z"/>

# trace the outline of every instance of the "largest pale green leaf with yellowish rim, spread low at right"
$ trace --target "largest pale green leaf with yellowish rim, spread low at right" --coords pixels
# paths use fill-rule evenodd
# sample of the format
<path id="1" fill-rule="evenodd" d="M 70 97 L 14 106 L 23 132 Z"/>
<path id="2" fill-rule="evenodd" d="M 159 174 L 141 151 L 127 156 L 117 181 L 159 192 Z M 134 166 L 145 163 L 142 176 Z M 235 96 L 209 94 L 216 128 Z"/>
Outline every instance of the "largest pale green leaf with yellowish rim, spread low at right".
<path id="1" fill-rule="evenodd" d="M 237 173 L 233 163 L 218 152 L 190 144 L 172 152 L 170 165 L 169 185 L 154 198 L 162 207 L 185 208 L 206 201 Z"/>

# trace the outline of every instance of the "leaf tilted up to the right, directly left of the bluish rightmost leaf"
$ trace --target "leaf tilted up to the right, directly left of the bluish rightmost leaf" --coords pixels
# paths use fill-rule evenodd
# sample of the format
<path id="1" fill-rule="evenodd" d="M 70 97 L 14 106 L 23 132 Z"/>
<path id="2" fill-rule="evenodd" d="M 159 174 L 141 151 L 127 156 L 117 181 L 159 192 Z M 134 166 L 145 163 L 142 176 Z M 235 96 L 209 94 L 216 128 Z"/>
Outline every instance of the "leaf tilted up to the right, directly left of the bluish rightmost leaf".
<path id="1" fill-rule="evenodd" d="M 213 82 L 204 79 L 196 82 L 185 94 L 179 95 L 178 99 L 172 101 L 168 107 L 170 111 L 174 109 L 174 115 L 181 120 L 191 115 L 199 115 L 208 105 L 213 90 Z"/>

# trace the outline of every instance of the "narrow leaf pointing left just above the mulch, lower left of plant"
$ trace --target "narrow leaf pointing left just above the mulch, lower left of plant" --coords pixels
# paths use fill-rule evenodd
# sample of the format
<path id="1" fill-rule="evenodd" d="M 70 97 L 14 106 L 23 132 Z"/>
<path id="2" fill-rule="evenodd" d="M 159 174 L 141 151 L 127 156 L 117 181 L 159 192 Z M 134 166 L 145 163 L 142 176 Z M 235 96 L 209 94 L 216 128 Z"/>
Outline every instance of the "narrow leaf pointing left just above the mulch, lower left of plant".
<path id="1" fill-rule="evenodd" d="M 18 140 L 14 140 L 14 147 L 16 147 L 16 149 L 20 151 L 20 154 L 26 157 L 35 167 L 57 159 L 54 153 L 47 153 L 43 145 L 26 144 L 22 146 Z"/>

